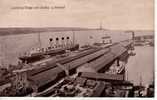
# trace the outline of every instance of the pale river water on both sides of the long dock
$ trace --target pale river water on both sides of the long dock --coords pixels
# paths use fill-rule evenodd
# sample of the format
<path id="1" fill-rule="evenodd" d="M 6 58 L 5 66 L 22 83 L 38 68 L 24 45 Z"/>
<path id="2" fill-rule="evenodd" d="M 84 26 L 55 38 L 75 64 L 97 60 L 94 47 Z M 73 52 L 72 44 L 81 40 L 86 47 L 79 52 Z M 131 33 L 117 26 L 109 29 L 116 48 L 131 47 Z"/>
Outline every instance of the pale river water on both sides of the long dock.
<path id="1" fill-rule="evenodd" d="M 65 32 L 43 32 L 41 33 L 42 47 L 48 46 L 50 37 L 69 36 L 72 39 L 72 31 Z M 88 30 L 88 31 L 75 31 L 75 42 L 80 46 L 87 43 L 101 42 L 101 37 L 109 34 L 113 42 L 122 41 L 130 38 L 130 34 L 118 31 L 101 31 L 101 30 Z M 45 35 L 46 34 L 46 35 Z M 93 37 L 89 39 L 89 37 Z M 38 44 L 38 34 L 21 34 L 0 36 L 0 63 L 16 64 L 19 54 L 27 51 L 31 47 L 36 47 Z M 135 47 L 135 56 L 131 56 L 128 60 L 126 69 L 128 70 L 128 79 L 135 84 L 139 84 L 140 77 L 143 84 L 148 84 L 152 81 L 154 72 L 154 47 Z"/>

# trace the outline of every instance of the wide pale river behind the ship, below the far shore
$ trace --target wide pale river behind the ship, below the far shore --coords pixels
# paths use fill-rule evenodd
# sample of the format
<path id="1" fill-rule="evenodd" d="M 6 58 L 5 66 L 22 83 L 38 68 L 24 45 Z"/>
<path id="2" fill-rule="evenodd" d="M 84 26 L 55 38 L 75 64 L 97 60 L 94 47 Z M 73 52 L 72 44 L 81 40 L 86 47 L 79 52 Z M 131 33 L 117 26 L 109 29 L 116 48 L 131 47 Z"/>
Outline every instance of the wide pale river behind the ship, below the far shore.
<path id="1" fill-rule="evenodd" d="M 75 33 L 75 36 L 73 36 L 73 33 Z M 55 42 L 57 37 L 60 39 L 61 37 L 69 36 L 71 41 L 75 37 L 75 43 L 79 43 L 82 46 L 102 42 L 101 38 L 107 34 L 111 36 L 112 42 L 122 41 L 131 37 L 130 34 L 124 34 L 124 32 L 103 30 L 42 32 L 40 33 L 40 42 L 41 47 L 46 48 L 49 46 L 49 38 L 53 38 Z M 17 64 L 18 57 L 21 54 L 39 46 L 38 37 L 37 33 L 0 36 L 0 65 L 1 62 L 5 65 Z M 92 37 L 92 39 L 89 37 Z M 61 41 L 59 40 L 59 42 Z"/>

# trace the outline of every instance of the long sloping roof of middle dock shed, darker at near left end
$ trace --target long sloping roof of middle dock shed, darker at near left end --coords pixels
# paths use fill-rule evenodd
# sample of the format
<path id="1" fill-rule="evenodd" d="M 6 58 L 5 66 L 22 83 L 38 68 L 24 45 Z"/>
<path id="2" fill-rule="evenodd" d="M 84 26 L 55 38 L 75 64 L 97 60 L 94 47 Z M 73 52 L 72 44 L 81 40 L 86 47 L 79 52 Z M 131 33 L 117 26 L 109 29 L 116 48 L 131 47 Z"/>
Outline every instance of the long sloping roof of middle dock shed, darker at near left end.
<path id="1" fill-rule="evenodd" d="M 81 57 L 79 59 L 76 59 L 76 60 L 73 60 L 66 64 L 63 64 L 63 66 L 65 66 L 65 69 L 71 70 L 71 69 L 78 67 L 81 64 L 86 63 L 87 61 L 89 61 L 91 59 L 94 59 L 94 58 L 104 54 L 105 52 L 106 52 L 106 50 L 100 50 L 100 51 L 94 52 L 90 55 L 87 55 L 85 57 Z M 41 87 L 45 84 L 48 84 L 51 81 L 54 81 L 57 78 L 57 75 L 61 72 L 63 72 L 62 68 L 55 67 L 55 68 L 49 69 L 47 71 L 41 72 L 39 74 L 36 74 L 34 76 L 30 76 L 29 80 L 34 82 L 38 87 Z"/>

